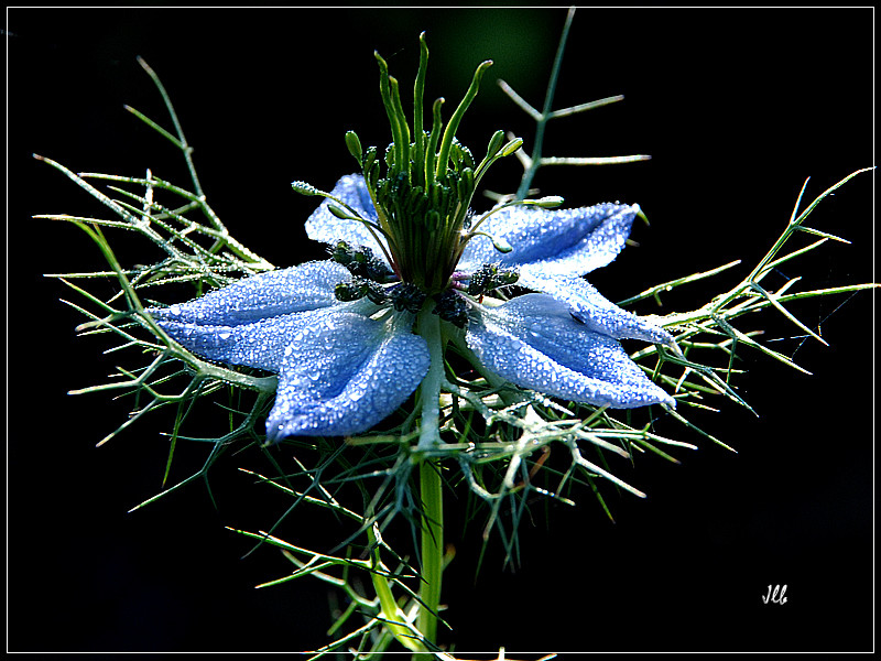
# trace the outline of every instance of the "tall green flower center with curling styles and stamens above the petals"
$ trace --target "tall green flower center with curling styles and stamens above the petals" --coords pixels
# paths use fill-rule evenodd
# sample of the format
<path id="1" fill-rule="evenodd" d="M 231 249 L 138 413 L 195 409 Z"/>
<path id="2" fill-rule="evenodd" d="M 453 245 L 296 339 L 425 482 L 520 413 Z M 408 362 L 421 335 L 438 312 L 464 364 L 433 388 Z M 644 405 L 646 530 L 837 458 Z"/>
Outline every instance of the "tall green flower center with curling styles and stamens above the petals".
<path id="1" fill-rule="evenodd" d="M 516 151 L 523 141 L 518 138 L 505 143 L 504 133 L 497 131 L 487 155 L 476 163 L 468 148 L 456 140 L 459 122 L 477 96 L 490 61 L 477 67 L 471 85 L 446 126 L 440 117 L 444 99 L 434 102 L 432 128 L 425 130 L 423 97 L 428 47 L 424 33 L 420 35 L 411 132 L 398 80 L 389 75 L 388 65 L 378 53 L 376 57 L 392 143 L 384 159 L 378 156 L 374 147 L 362 151 L 354 131 L 346 134 L 346 143 L 365 175 L 395 273 L 426 295 L 438 294 L 448 289 L 461 251 L 474 236 L 463 229 L 477 185 L 496 160 Z"/>

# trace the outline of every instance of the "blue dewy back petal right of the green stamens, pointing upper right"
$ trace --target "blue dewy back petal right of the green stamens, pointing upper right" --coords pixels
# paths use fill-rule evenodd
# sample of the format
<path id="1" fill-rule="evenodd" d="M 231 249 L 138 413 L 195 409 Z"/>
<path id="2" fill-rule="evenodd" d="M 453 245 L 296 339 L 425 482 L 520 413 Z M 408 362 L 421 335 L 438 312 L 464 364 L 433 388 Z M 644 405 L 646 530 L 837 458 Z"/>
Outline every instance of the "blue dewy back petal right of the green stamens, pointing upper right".
<path id="1" fill-rule="evenodd" d="M 546 275 L 585 275 L 618 256 L 639 209 L 611 203 L 574 209 L 508 207 L 487 218 L 478 231 L 504 239 L 513 250 L 501 253 L 488 237 L 475 237 L 459 269 L 498 262 L 508 268 L 530 264 Z"/>

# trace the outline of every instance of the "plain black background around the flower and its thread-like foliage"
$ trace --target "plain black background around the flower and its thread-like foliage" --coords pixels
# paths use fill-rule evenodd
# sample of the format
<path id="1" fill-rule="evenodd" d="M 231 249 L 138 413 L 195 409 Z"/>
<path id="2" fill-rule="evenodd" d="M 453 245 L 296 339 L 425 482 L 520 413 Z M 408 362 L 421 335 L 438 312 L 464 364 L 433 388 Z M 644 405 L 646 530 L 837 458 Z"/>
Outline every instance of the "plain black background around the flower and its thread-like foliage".
<path id="1" fill-rule="evenodd" d="M 15 651 L 282 651 L 315 648 L 330 619 L 323 584 L 253 585 L 283 575 L 270 550 L 224 525 L 265 528 L 285 503 L 236 470 L 211 472 L 217 509 L 194 485 L 126 511 L 160 488 L 167 420 L 144 421 L 94 444 L 124 402 L 65 393 L 100 382 L 117 359 L 100 339 L 77 339 L 81 319 L 46 272 L 102 269 L 74 227 L 45 213 L 98 213 L 36 152 L 76 171 L 185 183 L 173 149 L 122 109 L 167 126 L 135 62 L 143 56 L 176 105 L 213 207 L 233 236 L 273 263 L 320 257 L 302 221 L 314 201 L 294 178 L 329 189 L 354 170 L 342 142 L 388 141 L 372 51 L 406 88 L 420 31 L 432 58 L 426 98 L 457 102 L 476 65 L 493 58 L 460 139 L 482 153 L 491 132 L 531 145 L 533 126 L 492 84 L 502 77 L 540 105 L 564 9 L 543 10 L 9 10 L 9 449 L 8 647 Z M 638 202 L 651 226 L 640 243 L 590 278 L 611 300 L 732 259 L 743 267 L 664 299 L 692 308 L 736 283 L 782 231 L 811 176 L 813 199 L 872 164 L 873 12 L 864 10 L 580 10 L 557 107 L 624 94 L 627 100 L 557 120 L 548 155 L 650 153 L 602 169 L 542 171 L 535 185 L 572 205 Z M 405 101 L 406 102 L 406 101 Z M 519 166 L 487 182 L 510 191 Z M 850 246 L 825 246 L 786 267 L 805 288 L 872 279 L 873 175 L 824 202 L 811 220 Z M 137 246 L 143 246 L 138 243 Z M 138 248 L 123 262 L 135 263 Z M 127 261 L 128 260 L 128 261 Z M 780 281 L 772 284 L 780 284 Z M 474 582 L 479 525 L 448 537 L 459 555 L 444 602 L 457 649 L 869 650 L 873 564 L 872 294 L 813 300 L 794 312 L 829 342 L 771 346 L 808 377 L 746 351 L 740 391 L 757 419 L 720 403 L 698 422 L 738 454 L 667 424 L 700 445 L 618 466 L 646 500 L 606 489 L 610 523 L 588 492 L 578 507 L 535 509 L 521 530 L 522 565 L 501 568 L 498 545 Z M 644 306 L 642 312 L 657 312 Z M 754 325 L 750 325 L 754 324 Z M 801 332 L 772 317 L 764 339 Z M 130 365 L 131 366 L 131 365 Z M 666 424 L 666 423 L 665 423 Z M 178 451 L 180 479 L 207 448 Z M 461 494 L 450 498 L 460 518 Z M 458 513 L 457 513 L 458 512 Z M 316 530 L 315 527 L 326 530 Z M 287 520 L 296 542 L 333 539 L 333 519 Z M 406 540 L 402 540 L 406 543 Z M 788 586 L 763 605 L 769 584 Z"/>

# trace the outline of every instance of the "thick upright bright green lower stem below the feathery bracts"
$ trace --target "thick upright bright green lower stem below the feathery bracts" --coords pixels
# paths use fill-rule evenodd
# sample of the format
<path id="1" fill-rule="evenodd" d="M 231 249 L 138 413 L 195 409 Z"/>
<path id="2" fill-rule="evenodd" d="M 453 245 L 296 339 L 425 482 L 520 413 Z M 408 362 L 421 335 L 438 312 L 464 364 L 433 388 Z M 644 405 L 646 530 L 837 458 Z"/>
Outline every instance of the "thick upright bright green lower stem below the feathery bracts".
<path id="1" fill-rule="evenodd" d="M 422 496 L 422 589 L 416 627 L 429 642 L 436 642 L 437 609 L 444 571 L 444 492 L 437 463 L 420 464 Z"/>

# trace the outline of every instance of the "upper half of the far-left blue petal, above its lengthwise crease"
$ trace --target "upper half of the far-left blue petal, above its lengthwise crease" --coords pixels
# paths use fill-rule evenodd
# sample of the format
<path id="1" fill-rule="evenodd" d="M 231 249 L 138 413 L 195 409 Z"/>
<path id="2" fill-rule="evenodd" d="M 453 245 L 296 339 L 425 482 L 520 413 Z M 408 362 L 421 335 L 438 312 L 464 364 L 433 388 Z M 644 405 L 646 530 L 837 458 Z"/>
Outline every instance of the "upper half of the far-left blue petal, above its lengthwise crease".
<path id="1" fill-rule="evenodd" d="M 334 305 L 334 288 L 350 280 L 351 274 L 336 262 L 306 262 L 243 278 L 188 303 L 146 312 L 156 321 L 236 326 Z"/>

